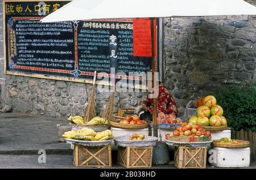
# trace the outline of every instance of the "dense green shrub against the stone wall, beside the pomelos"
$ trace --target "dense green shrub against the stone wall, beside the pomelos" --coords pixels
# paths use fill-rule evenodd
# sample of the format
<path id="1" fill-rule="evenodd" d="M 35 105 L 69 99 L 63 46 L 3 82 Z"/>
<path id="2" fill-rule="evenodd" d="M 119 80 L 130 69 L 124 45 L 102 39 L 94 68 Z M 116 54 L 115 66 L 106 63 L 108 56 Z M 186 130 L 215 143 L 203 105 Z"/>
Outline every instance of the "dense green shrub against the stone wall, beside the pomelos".
<path id="1" fill-rule="evenodd" d="M 236 131 L 251 129 L 256 132 L 256 87 L 221 87 L 216 93 L 217 103 L 223 108 L 228 126 Z"/>

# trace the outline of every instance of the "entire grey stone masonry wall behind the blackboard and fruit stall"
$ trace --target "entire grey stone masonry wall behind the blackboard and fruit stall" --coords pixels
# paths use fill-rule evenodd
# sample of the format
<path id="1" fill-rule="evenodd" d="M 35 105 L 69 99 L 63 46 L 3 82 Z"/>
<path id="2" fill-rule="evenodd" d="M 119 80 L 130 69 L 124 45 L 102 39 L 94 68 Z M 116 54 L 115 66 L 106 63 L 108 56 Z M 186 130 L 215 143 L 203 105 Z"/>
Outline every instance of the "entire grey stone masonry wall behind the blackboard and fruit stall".
<path id="1" fill-rule="evenodd" d="M 256 16 L 164 19 L 164 84 L 185 104 L 222 85 L 256 84 Z M 3 16 L 0 2 L 0 103 L 14 112 L 52 116 L 82 115 L 92 85 L 3 73 Z M 97 111 L 110 93 L 98 93 Z M 115 93 L 115 108 L 134 107 L 146 93 Z"/>

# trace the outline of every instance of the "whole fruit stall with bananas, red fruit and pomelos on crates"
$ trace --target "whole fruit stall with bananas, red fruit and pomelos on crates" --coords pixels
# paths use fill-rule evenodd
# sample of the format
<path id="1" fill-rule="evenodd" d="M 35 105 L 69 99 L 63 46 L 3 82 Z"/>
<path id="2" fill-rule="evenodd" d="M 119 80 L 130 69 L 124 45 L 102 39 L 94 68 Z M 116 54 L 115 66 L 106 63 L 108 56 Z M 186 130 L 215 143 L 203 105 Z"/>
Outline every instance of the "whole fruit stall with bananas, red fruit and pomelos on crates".
<path id="1" fill-rule="evenodd" d="M 215 97 L 191 101 L 187 108 L 179 118 L 159 112 L 158 137 L 152 133 L 152 122 L 141 120 L 134 108 L 120 108 L 111 119 L 96 116 L 86 121 L 70 116 L 71 131 L 62 136 L 72 145 L 73 164 L 79 167 L 111 167 L 117 163 L 125 168 L 151 168 L 171 161 L 169 154 L 179 169 L 204 169 L 207 164 L 218 168 L 250 165 L 249 142 L 230 138 L 224 110 Z M 160 143 L 166 145 L 167 154 L 156 148 Z M 113 150 L 117 150 L 116 162 L 112 162 Z M 159 154 L 165 154 L 167 161 L 163 162 L 163 157 L 158 160 Z"/>

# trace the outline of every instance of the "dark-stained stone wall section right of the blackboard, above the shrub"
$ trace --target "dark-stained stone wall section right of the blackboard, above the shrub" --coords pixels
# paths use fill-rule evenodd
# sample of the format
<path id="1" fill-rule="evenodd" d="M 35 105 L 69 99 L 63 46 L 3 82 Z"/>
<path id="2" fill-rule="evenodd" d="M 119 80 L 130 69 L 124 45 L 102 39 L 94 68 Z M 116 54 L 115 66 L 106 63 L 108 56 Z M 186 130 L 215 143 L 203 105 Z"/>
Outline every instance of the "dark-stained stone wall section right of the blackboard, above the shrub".
<path id="1" fill-rule="evenodd" d="M 164 19 L 164 80 L 180 112 L 222 85 L 256 84 L 256 16 Z"/>

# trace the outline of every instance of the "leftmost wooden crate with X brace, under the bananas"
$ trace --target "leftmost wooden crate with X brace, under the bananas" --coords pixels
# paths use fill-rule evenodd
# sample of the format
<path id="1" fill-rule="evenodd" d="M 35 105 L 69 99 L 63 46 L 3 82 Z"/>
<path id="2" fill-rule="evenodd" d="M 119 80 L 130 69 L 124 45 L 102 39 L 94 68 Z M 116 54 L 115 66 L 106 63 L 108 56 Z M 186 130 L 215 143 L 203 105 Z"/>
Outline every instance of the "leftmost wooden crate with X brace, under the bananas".
<path id="1" fill-rule="evenodd" d="M 75 145 L 74 165 L 77 167 L 112 167 L 111 145 L 83 146 Z"/>

